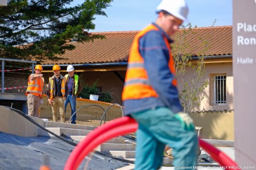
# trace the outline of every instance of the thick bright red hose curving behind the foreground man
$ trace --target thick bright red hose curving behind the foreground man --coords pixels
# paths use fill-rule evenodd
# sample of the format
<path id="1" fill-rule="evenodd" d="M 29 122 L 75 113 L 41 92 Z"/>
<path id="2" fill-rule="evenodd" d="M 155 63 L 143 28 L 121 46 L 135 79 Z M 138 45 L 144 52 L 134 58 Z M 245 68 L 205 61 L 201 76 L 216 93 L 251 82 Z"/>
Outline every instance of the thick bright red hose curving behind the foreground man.
<path id="1" fill-rule="evenodd" d="M 86 136 L 86 138 L 82 139 L 82 141 L 71 152 L 71 155 L 69 155 L 69 158 L 65 164 L 64 170 L 77 169 L 85 156 L 93 151 L 98 145 L 108 141 L 109 139 L 118 137 L 119 135 L 132 133 L 137 129 L 138 124 L 131 117 L 117 118 L 97 129 L 94 129 Z M 240 169 L 238 165 L 233 162 L 233 160 L 230 159 L 224 152 L 221 152 L 209 143 L 199 139 L 199 145 L 205 151 L 207 151 L 216 162 L 220 163 L 221 166 L 226 166 L 227 169 Z"/>

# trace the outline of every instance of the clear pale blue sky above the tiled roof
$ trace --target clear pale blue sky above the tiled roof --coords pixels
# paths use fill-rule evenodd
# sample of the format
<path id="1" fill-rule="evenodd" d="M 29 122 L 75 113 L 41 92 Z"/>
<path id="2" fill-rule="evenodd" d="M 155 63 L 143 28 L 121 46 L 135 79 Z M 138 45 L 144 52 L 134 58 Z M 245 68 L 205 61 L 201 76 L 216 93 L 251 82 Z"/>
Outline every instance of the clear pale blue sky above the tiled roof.
<path id="1" fill-rule="evenodd" d="M 79 0 L 77 0 L 79 1 Z M 106 16 L 96 16 L 96 29 L 89 32 L 139 31 L 155 21 L 162 0 L 114 0 Z M 186 0 L 192 27 L 232 25 L 232 0 Z M 185 22 L 184 25 L 188 23 Z"/>

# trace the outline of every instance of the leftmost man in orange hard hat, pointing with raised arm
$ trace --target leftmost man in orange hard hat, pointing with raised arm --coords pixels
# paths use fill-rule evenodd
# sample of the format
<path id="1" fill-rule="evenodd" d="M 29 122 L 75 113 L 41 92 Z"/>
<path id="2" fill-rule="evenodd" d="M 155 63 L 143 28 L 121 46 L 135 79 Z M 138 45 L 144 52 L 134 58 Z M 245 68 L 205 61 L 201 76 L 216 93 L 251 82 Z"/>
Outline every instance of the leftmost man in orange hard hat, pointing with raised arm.
<path id="1" fill-rule="evenodd" d="M 44 78 L 43 67 L 41 65 L 35 66 L 35 74 L 28 76 L 27 82 L 27 108 L 28 115 L 39 117 L 40 101 L 43 94 Z"/>

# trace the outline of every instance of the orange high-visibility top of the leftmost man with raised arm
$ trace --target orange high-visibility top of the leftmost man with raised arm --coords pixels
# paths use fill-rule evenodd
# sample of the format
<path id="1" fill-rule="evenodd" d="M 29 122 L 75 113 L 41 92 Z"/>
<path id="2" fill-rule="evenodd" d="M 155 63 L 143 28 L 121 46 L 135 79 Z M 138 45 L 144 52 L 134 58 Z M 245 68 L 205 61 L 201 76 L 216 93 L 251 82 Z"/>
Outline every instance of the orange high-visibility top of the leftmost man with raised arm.
<path id="1" fill-rule="evenodd" d="M 44 84 L 43 79 L 39 76 L 38 78 L 36 78 L 32 82 L 30 82 L 30 76 L 28 76 L 28 82 L 27 82 L 28 86 L 27 86 L 26 95 L 32 94 L 35 96 L 42 97 L 43 84 Z"/>

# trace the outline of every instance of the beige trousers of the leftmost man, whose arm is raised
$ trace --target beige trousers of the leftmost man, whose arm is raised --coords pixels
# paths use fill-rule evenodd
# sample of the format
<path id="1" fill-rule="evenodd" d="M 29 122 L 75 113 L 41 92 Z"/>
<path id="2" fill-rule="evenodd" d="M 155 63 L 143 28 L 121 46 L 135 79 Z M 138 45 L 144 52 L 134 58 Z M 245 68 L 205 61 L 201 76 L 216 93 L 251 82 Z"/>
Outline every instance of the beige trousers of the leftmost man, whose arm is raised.
<path id="1" fill-rule="evenodd" d="M 41 98 L 39 96 L 35 96 L 32 94 L 27 95 L 28 115 L 39 117 L 40 100 Z"/>

